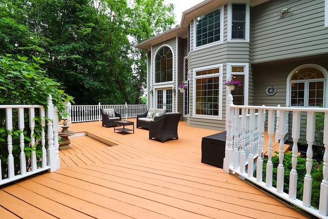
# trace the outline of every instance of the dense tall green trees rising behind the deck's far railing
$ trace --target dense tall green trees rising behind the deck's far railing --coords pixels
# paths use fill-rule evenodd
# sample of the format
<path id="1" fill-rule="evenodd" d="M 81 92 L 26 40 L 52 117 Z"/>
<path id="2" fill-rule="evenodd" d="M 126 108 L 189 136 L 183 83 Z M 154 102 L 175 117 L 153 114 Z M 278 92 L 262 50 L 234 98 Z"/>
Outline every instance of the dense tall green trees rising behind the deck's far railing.
<path id="1" fill-rule="evenodd" d="M 147 52 L 134 45 L 171 28 L 163 0 L 0 0 L 0 55 L 42 56 L 76 104 L 139 102 Z"/>

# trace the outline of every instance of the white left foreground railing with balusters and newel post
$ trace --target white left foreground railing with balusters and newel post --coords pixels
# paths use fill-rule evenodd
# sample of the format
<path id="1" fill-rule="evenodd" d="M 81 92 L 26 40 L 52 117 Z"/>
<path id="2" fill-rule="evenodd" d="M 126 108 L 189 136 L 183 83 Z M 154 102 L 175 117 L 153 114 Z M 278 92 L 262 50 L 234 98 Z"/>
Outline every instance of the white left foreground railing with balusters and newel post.
<path id="1" fill-rule="evenodd" d="M 1 148 L 0 163 L 0 185 L 20 180 L 35 173 L 50 171 L 53 172 L 60 168 L 58 155 L 58 115 L 53 106 L 51 96 L 47 100 L 48 110 L 40 105 L 0 105 L 0 110 L 6 114 L 6 127 L 2 127 L 2 133 L 7 133 L 6 137 L 2 134 L 1 141 L 7 143 L 6 148 Z M 38 112 L 38 116 L 35 111 Z M 25 117 L 25 115 L 28 115 Z M 39 126 L 35 124 L 35 117 L 40 118 Z M 46 120 L 45 117 L 50 120 Z M 14 129 L 17 130 L 14 130 Z M 40 138 L 35 138 L 35 129 L 40 128 Z M 45 133 L 47 131 L 47 134 Z M 25 135 L 29 133 L 29 135 Z M 15 141 L 15 138 L 19 138 Z M 47 139 L 46 139 L 47 138 Z M 47 141 L 47 144 L 46 144 Z M 37 158 L 35 150 L 40 145 Z M 14 153 L 17 151 L 18 153 Z M 29 151 L 29 155 L 26 152 Z M 14 154 L 13 154 L 14 153 Z M 19 158 L 17 157 L 19 154 Z M 15 159 L 16 156 L 16 159 Z M 39 165 L 37 164 L 38 162 Z M 28 164 L 28 166 L 27 166 Z M 20 167 L 17 169 L 17 167 Z M 3 177 L 4 175 L 4 177 Z"/>

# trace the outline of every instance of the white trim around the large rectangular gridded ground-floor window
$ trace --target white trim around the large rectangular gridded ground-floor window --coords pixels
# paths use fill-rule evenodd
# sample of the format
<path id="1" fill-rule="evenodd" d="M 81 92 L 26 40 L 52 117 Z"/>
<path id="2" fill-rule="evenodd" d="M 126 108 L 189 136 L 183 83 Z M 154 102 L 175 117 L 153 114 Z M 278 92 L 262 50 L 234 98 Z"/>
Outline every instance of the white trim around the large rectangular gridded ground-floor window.
<path id="1" fill-rule="evenodd" d="M 196 71 L 202 71 L 202 70 L 208 70 L 208 69 L 214 69 L 214 68 L 219 68 L 219 73 L 215 73 L 215 74 L 209 74 L 209 75 L 198 75 L 196 76 Z M 208 118 L 211 120 L 222 120 L 222 71 L 223 71 L 223 64 L 218 64 L 218 65 L 211 65 L 211 66 L 204 66 L 204 67 L 200 67 L 200 68 L 194 68 L 193 70 L 193 117 L 194 118 Z M 218 116 L 213 116 L 213 115 L 199 115 L 196 114 L 196 79 L 197 78 L 205 78 L 205 77 L 215 77 L 215 76 L 219 76 L 219 113 Z M 190 110 L 190 108 L 189 108 Z"/>

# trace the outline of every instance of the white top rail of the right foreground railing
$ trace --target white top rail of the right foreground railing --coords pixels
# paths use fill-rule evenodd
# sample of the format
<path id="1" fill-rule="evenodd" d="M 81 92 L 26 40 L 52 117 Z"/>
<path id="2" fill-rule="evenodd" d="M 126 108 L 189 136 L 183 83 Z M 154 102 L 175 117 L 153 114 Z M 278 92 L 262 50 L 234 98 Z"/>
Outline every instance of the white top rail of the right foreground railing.
<path id="1" fill-rule="evenodd" d="M 260 110 L 284 110 L 284 111 L 300 111 L 300 112 L 328 112 L 328 108 L 322 107 L 269 107 L 269 106 L 242 106 L 231 105 L 231 108 L 238 109 L 260 109 Z"/>

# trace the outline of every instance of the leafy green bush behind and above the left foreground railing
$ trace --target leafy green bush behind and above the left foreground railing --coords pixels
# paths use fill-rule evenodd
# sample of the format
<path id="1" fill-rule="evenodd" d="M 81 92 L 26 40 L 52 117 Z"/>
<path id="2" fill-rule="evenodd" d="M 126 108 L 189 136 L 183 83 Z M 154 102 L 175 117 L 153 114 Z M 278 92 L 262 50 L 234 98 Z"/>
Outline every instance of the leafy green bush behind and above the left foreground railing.
<path id="1" fill-rule="evenodd" d="M 72 102 L 72 97 L 65 94 L 60 89 L 60 84 L 46 76 L 46 72 L 39 67 L 39 64 L 44 63 L 42 59 L 32 56 L 33 61 L 29 61 L 27 57 L 17 55 L 17 58 L 12 58 L 11 55 L 1 56 L 0 58 L 0 104 L 1 105 L 42 105 L 47 109 L 47 98 L 49 94 L 52 96 L 52 102 L 57 106 L 59 111 L 65 109 L 64 102 Z M 13 129 L 6 130 L 6 112 L 5 109 L 0 109 L 0 160 L 2 162 L 2 177 L 7 177 L 7 157 L 8 157 L 8 142 L 7 135 L 12 136 L 12 154 L 14 157 L 14 171 L 19 174 L 20 171 L 20 135 L 24 135 L 24 151 L 27 157 L 27 170 L 31 167 L 30 156 L 34 151 L 37 156 L 37 165 L 40 165 L 40 157 L 42 155 L 42 127 L 39 109 L 35 109 L 35 127 L 33 137 L 35 145 L 32 147 L 31 129 L 29 127 L 28 109 L 24 110 L 25 124 L 24 130 L 18 127 L 18 112 L 13 109 Z M 45 117 L 45 120 L 49 120 Z M 47 131 L 45 130 L 45 133 Z M 46 136 L 44 136 L 46 137 Z M 47 145 L 45 145 L 47 146 Z"/>

